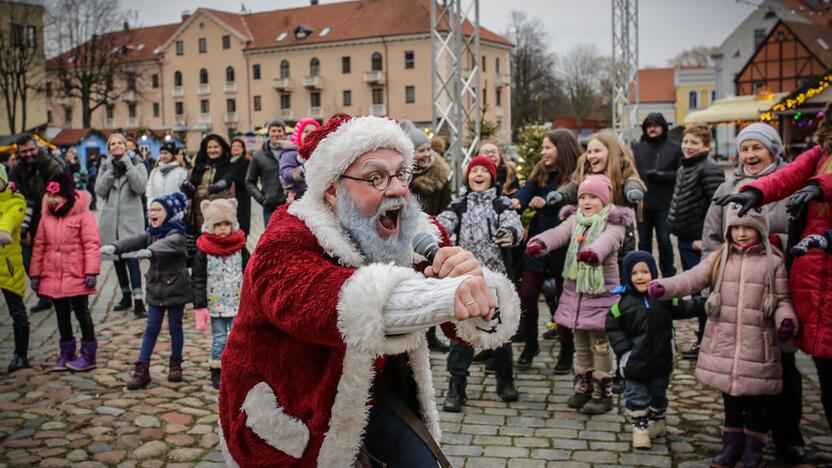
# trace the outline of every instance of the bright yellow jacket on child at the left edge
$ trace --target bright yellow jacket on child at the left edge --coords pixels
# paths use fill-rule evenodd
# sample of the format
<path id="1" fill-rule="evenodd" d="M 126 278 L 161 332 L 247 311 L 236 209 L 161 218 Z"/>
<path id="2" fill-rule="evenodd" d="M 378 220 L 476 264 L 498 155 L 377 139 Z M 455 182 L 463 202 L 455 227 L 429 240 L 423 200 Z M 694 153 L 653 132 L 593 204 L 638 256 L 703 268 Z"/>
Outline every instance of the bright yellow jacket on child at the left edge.
<path id="1" fill-rule="evenodd" d="M 26 279 L 23 251 L 20 248 L 20 224 L 26 211 L 23 195 L 6 189 L 0 192 L 0 231 L 12 236 L 12 243 L 0 247 L 0 288 L 23 296 Z"/>

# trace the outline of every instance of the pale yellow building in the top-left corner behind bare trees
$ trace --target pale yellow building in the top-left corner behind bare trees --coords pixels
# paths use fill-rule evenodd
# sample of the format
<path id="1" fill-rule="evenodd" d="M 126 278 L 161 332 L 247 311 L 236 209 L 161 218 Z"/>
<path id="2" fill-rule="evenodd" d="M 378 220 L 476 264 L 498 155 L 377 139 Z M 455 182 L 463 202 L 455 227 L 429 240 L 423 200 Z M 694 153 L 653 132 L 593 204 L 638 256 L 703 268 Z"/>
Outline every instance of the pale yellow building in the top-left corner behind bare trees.
<path id="1" fill-rule="evenodd" d="M 46 67 L 43 52 L 44 12 L 41 5 L 0 1 L 0 60 L 5 62 L 2 66 L 10 67 L 20 63 L 18 60 L 21 56 L 26 57 L 22 61 L 30 64 L 27 65 L 30 73 L 26 78 L 29 89 L 26 91 L 25 112 L 24 104 L 18 98 L 14 126 L 9 119 L 4 94 L 0 93 L 0 135 L 20 133 L 46 124 L 46 94 L 43 91 Z"/>

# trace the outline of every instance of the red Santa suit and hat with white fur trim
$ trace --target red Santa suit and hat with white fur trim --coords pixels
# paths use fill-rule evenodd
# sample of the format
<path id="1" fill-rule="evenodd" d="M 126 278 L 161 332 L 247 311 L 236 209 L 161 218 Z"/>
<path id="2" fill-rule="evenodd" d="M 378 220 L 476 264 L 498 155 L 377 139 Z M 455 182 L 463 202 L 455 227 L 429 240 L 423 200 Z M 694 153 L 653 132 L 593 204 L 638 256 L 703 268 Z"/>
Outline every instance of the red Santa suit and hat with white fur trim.
<path id="1" fill-rule="evenodd" d="M 394 121 L 377 117 L 342 119 L 319 132 L 310 139 L 316 146 L 306 163 L 306 195 L 279 209 L 261 237 L 222 356 L 219 432 L 230 466 L 353 466 L 373 389 L 385 385 L 440 438 L 424 336 L 429 325 L 388 333 L 388 299 L 405 281 L 425 281 L 415 269 L 425 258 L 414 253 L 410 267 L 369 263 L 324 201 L 359 156 L 393 149 L 412 167 L 413 144 Z M 435 221 L 419 216 L 417 231 L 447 239 Z M 505 276 L 483 271 L 500 320 L 489 329 L 478 325 L 482 320 L 456 327 L 474 346 L 495 348 L 517 328 L 519 299 Z M 441 288 L 455 279 L 432 281 Z M 409 296 L 413 314 L 428 296 Z M 453 306 L 445 309 L 452 318 Z M 394 367 L 398 372 L 388 375 Z"/>

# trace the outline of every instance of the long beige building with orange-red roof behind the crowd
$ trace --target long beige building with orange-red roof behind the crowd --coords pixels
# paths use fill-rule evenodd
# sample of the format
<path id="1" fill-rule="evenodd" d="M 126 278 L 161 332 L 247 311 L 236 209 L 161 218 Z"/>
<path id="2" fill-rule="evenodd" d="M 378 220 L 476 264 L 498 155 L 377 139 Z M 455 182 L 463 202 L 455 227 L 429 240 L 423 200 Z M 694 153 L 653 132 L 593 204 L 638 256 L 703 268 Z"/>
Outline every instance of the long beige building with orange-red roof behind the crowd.
<path id="1" fill-rule="evenodd" d="M 179 24 L 134 29 L 130 50 L 136 59 L 129 66 L 136 91 L 109 110 L 96 110 L 93 125 L 182 132 L 191 150 L 208 133 L 228 137 L 274 118 L 292 124 L 337 112 L 410 119 L 427 128 L 429 12 L 427 0 L 360 0 L 242 15 L 201 8 Z M 511 133 L 511 47 L 481 29 L 484 119 L 498 124 L 502 143 Z M 53 125 L 80 126 L 80 106 L 72 101 L 53 93 Z"/>

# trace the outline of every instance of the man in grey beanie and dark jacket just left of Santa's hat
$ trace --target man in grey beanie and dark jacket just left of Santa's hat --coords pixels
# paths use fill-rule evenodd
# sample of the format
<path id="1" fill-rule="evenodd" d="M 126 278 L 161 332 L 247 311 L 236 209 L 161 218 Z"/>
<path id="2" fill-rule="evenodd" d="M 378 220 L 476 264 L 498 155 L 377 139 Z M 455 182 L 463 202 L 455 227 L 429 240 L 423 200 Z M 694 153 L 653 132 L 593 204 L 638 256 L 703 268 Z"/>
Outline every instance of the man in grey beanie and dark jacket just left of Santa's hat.
<path id="1" fill-rule="evenodd" d="M 264 227 L 269 225 L 269 219 L 277 207 L 286 203 L 286 194 L 280 183 L 280 156 L 285 151 L 296 151 L 297 148 L 286 140 L 285 128 L 286 124 L 280 119 L 269 122 L 269 140 L 254 153 L 246 173 L 248 193 L 263 205 Z"/>

